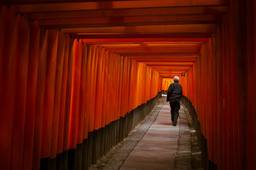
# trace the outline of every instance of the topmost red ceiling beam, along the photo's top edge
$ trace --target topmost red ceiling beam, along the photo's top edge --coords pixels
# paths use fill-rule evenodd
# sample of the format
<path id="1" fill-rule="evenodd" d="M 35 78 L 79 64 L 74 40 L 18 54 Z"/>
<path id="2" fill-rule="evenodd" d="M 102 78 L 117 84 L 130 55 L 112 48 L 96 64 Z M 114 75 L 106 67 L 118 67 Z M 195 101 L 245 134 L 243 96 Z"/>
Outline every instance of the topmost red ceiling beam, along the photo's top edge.
<path id="1" fill-rule="evenodd" d="M 26 1 L 26 0 L 24 0 Z M 159 7 L 171 7 L 171 6 L 226 6 L 227 0 L 162 0 L 162 1 L 105 1 L 105 2 L 75 2 L 54 3 L 54 1 L 42 1 L 41 4 L 29 4 L 33 3 L 32 0 L 27 0 L 28 4 L 24 4 L 23 0 L 9 0 L 4 1 L 1 4 L 18 4 L 17 12 L 31 13 L 31 12 L 60 12 L 60 11 L 77 11 L 77 10 L 106 10 L 106 9 L 123 9 L 123 8 L 159 8 Z M 52 3 L 50 3 L 52 2 Z M 22 4 L 20 4 L 22 3 Z M 35 3 L 35 2 L 34 2 Z"/>

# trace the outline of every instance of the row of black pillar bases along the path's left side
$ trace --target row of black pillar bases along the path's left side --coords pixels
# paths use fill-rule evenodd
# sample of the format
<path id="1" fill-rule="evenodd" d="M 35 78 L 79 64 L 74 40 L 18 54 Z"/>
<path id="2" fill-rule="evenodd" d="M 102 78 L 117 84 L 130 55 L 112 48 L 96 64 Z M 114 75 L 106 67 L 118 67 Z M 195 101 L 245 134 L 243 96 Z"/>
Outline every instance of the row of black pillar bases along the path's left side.
<path id="1" fill-rule="evenodd" d="M 148 100 L 131 112 L 112 121 L 106 127 L 88 133 L 88 138 L 82 144 L 77 144 L 76 149 L 69 149 L 57 155 L 56 158 L 41 158 L 40 170 L 85 170 L 97 160 L 106 155 L 113 146 L 120 143 L 129 132 L 140 123 L 157 104 L 161 92 L 156 97 Z"/>

